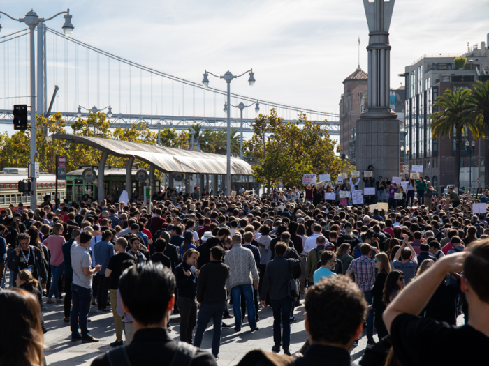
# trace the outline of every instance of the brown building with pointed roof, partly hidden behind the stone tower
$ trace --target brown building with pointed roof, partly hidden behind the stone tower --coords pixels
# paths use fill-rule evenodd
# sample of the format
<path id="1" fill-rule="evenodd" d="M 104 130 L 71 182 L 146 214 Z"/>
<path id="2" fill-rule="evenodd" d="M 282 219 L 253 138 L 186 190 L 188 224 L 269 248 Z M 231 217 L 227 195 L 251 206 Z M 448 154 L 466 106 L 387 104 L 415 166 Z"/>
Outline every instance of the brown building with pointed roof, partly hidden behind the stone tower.
<path id="1" fill-rule="evenodd" d="M 360 118 L 363 94 L 368 90 L 368 75 L 360 66 L 343 81 L 340 100 L 340 146 L 349 160 L 356 159 L 354 136 L 356 121 Z"/>

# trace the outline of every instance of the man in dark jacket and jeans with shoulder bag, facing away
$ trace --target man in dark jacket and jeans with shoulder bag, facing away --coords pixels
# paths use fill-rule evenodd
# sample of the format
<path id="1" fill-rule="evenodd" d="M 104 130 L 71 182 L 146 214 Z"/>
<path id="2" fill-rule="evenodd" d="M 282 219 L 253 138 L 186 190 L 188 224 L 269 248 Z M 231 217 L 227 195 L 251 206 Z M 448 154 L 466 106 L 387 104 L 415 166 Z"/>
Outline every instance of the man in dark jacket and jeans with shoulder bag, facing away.
<path id="1" fill-rule="evenodd" d="M 291 252 L 292 248 L 287 247 L 286 243 L 279 241 L 275 245 L 275 257 L 267 264 L 263 286 L 260 293 L 261 306 L 265 307 L 265 298 L 270 294 L 273 310 L 273 341 L 275 346 L 272 351 L 279 353 L 281 341 L 284 341 L 284 354 L 289 355 L 291 344 L 291 311 L 293 298 L 289 296 L 289 281 L 292 280 L 293 268 L 300 266 L 300 259 L 285 256 L 286 252 Z M 298 268 L 300 273 L 300 268 Z M 282 321 L 283 331 L 280 334 L 280 322 Z"/>

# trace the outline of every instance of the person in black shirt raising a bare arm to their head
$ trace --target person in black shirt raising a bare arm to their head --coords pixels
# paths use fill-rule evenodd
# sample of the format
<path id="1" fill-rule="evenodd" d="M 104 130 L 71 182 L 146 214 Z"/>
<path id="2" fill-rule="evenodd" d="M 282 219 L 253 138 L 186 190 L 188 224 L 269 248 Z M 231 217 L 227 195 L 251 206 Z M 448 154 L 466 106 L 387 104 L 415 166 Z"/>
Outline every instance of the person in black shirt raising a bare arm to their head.
<path id="1" fill-rule="evenodd" d="M 384 311 L 384 323 L 394 353 L 402 365 L 458 365 L 482 360 L 489 344 L 489 241 L 474 243 L 464 252 L 441 257 L 416 281 L 404 287 Z M 460 287 L 469 305 L 465 326 L 454 327 L 418 317 L 448 273 L 460 273 Z M 458 347 L 432 352 L 458 340 Z M 460 352 L 463 347 L 464 352 Z M 446 348 L 446 347 L 445 347 Z M 479 356 L 477 356 L 479 355 Z"/>

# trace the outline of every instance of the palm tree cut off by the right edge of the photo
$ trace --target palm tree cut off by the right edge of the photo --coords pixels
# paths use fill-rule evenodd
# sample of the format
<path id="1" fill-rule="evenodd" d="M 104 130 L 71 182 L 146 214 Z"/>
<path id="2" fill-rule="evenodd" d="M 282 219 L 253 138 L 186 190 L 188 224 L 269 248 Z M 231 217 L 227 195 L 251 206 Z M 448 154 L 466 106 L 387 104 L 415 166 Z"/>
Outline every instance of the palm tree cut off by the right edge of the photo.
<path id="1" fill-rule="evenodd" d="M 478 81 L 474 85 L 474 89 L 471 90 L 467 103 L 470 107 L 469 118 L 472 118 L 476 123 L 483 123 L 484 125 L 484 140 L 486 142 L 484 161 L 487 167 L 487 162 L 489 162 L 489 81 L 486 81 L 486 84 Z M 487 187 L 489 184 L 489 169 L 486 169 L 484 178 Z"/>

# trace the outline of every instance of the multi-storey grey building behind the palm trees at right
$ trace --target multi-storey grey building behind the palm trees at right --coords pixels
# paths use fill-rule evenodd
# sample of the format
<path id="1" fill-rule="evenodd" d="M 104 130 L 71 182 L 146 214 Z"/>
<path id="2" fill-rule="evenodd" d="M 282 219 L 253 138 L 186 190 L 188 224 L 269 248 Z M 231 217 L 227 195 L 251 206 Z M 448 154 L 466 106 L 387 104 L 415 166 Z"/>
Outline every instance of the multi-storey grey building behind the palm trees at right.
<path id="1" fill-rule="evenodd" d="M 467 63 L 464 67 L 455 70 L 455 57 L 465 56 Z M 474 45 L 469 52 L 460 55 L 443 54 L 424 55 L 410 66 L 405 68 L 406 100 L 405 100 L 405 142 L 401 152 L 405 153 L 406 164 L 411 166 L 423 165 L 423 176 L 435 187 L 455 183 L 455 138 L 433 138 L 431 134 L 430 116 L 437 112 L 433 107 L 437 96 L 442 96 L 447 89 L 470 88 L 477 80 L 489 79 L 488 65 L 489 49 L 482 42 L 481 47 Z M 460 151 L 460 167 L 469 168 L 469 153 L 465 149 L 465 142 L 472 142 L 472 135 L 462 136 L 462 150 Z M 480 146 L 479 146 L 480 144 Z M 479 148 L 482 152 L 481 160 L 481 187 L 483 182 L 483 139 L 475 140 L 475 149 L 472 153 L 472 187 L 477 187 L 479 177 Z M 403 154 L 401 154 L 403 155 Z M 461 169 L 461 170 L 462 170 Z M 469 169 L 460 174 L 460 186 L 469 185 Z"/>

